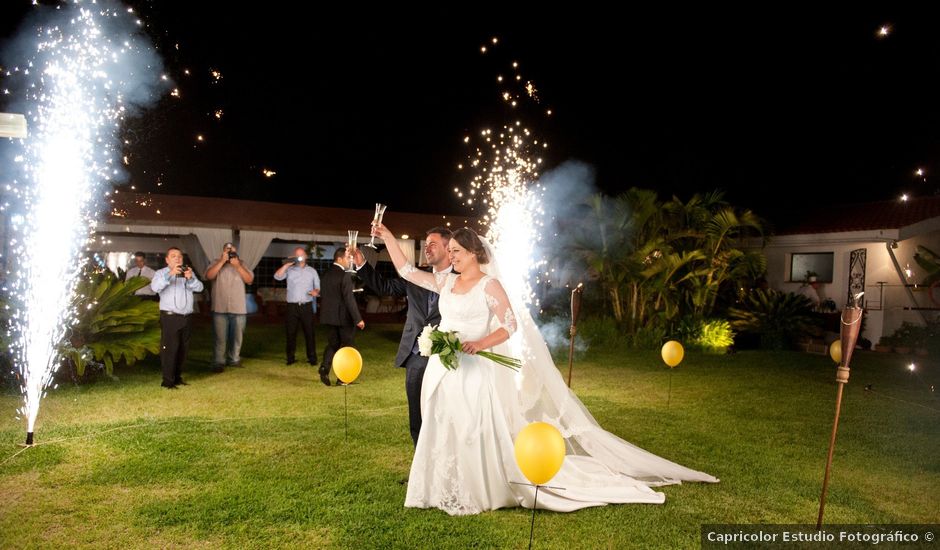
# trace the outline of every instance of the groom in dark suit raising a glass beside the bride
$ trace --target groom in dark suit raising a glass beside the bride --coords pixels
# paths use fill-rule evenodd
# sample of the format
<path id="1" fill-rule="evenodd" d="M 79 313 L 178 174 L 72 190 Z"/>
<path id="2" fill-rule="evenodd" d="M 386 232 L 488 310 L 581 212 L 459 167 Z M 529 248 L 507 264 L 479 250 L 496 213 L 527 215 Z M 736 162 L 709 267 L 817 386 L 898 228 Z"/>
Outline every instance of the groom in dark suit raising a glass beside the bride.
<path id="1" fill-rule="evenodd" d="M 453 271 L 450 256 L 447 254 L 450 229 L 435 227 L 429 229 L 425 235 L 424 257 L 434 273 Z M 395 366 L 405 368 L 408 420 L 411 425 L 411 439 L 417 445 L 418 434 L 421 432 L 421 380 L 424 378 L 424 369 L 428 366 L 428 358 L 418 353 L 418 336 L 426 325 L 438 325 L 441 322 L 441 312 L 437 309 L 438 294 L 404 279 L 382 277 L 366 263 L 359 249 L 356 249 L 354 259 L 359 278 L 370 290 L 380 296 L 408 297 L 408 318 L 401 334 L 401 343 L 398 345 Z"/>

